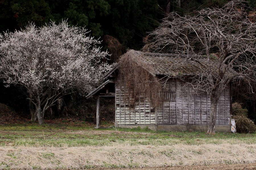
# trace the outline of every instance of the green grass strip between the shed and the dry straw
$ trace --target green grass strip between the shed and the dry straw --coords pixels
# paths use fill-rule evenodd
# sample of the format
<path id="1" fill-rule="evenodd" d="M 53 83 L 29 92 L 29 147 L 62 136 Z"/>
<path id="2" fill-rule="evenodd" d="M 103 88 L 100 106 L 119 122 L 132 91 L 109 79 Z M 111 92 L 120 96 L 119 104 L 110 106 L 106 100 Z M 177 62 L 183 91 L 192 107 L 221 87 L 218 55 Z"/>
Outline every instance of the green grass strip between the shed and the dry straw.
<path id="1" fill-rule="evenodd" d="M 255 144 L 256 134 L 205 132 L 166 132 L 150 129 L 94 129 L 94 125 L 79 124 L 13 124 L 0 126 L 0 146 L 72 147 L 126 145 L 202 145 Z"/>

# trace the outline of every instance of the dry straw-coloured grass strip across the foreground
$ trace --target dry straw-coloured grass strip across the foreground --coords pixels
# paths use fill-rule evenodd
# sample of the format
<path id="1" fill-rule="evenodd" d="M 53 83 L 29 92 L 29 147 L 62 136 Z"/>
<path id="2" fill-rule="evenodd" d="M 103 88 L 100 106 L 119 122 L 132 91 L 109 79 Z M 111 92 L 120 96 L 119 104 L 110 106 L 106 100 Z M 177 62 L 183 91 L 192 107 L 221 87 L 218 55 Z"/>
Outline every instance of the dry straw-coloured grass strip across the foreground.
<path id="1" fill-rule="evenodd" d="M 0 147 L 0 169 L 87 169 L 256 163 L 256 144 Z"/>

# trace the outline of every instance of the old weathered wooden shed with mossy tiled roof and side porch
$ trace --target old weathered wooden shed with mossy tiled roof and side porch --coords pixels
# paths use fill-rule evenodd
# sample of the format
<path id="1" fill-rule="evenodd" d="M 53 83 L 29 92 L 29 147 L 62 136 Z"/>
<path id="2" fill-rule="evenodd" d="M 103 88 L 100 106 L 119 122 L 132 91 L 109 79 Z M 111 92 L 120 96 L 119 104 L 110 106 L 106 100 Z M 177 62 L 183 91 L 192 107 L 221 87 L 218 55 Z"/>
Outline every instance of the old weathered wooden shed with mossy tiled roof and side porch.
<path id="1" fill-rule="evenodd" d="M 166 75 L 169 77 L 159 92 L 161 104 L 154 107 L 150 103 L 149 96 L 142 94 L 131 106 L 130 103 L 134 99 L 125 80 L 118 78 L 119 65 L 117 64 L 104 76 L 105 82 L 86 96 L 87 98 L 98 97 L 97 117 L 99 117 L 99 97 L 115 97 L 115 122 L 120 127 L 140 126 L 167 131 L 207 131 L 210 119 L 210 95 L 206 92 L 193 94 L 183 80 L 170 76 L 172 74 L 170 70 L 180 74 L 182 78 L 196 76 L 200 74 L 197 64 L 190 60 L 186 60 L 187 63 L 184 64 L 181 61 L 185 60 L 179 58 L 182 56 L 175 54 L 137 53 L 144 63 L 141 67 L 150 74 L 159 78 Z M 231 84 L 220 96 L 215 130 L 229 132 L 230 117 Z"/>

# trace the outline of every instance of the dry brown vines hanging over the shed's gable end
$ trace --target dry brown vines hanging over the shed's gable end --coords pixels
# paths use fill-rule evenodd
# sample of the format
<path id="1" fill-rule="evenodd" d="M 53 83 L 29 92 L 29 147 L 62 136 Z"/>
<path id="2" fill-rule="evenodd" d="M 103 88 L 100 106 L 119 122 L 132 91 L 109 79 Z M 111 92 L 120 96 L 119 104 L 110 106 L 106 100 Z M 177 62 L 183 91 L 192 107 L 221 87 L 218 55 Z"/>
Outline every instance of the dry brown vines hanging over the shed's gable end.
<path id="1" fill-rule="evenodd" d="M 134 102 L 141 96 L 149 96 L 153 106 L 159 105 L 159 92 L 162 84 L 158 78 L 152 76 L 149 71 L 154 70 L 151 65 L 143 62 L 143 52 L 129 50 L 119 59 L 119 80 L 125 80 Z M 134 103 L 130 103 L 132 107 Z"/>

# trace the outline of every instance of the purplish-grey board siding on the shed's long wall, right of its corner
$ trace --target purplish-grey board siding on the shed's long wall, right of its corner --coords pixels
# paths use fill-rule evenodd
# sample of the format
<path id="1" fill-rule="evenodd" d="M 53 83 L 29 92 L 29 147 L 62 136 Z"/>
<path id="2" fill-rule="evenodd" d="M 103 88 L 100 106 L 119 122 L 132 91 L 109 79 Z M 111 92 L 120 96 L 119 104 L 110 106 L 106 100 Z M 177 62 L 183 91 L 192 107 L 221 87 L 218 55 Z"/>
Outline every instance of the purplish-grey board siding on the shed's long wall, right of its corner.
<path id="1" fill-rule="evenodd" d="M 169 80 L 164 90 L 174 91 L 176 102 L 164 101 L 157 109 L 157 124 L 208 124 L 210 119 L 210 95 L 191 94 L 181 80 Z M 222 92 L 217 106 L 216 124 L 230 124 L 230 87 Z M 168 108 L 169 107 L 169 108 Z M 168 123 L 169 122 L 169 123 Z"/>

